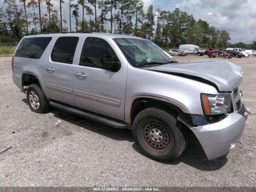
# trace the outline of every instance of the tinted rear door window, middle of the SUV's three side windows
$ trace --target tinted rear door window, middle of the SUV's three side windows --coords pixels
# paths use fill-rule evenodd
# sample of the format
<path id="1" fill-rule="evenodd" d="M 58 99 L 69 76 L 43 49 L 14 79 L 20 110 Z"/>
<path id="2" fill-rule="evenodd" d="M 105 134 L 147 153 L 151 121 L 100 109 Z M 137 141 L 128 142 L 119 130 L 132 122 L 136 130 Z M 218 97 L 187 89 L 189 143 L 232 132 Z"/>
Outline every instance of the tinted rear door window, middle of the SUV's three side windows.
<path id="1" fill-rule="evenodd" d="M 52 61 L 72 64 L 78 37 L 60 37 L 52 50 Z"/>

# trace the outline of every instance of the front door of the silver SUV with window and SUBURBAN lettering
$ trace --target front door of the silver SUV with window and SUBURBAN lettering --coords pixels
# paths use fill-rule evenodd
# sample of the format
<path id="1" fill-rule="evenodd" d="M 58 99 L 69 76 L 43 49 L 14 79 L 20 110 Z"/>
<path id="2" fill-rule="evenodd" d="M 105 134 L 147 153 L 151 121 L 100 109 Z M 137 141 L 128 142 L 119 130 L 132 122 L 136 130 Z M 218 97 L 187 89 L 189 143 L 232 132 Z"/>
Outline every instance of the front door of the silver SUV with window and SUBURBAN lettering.
<path id="1" fill-rule="evenodd" d="M 102 56 L 113 55 L 119 60 L 117 46 L 102 38 L 88 37 L 84 41 L 80 60 L 74 69 L 74 100 L 85 110 L 124 120 L 127 63 L 121 61 L 116 71 L 101 64 Z M 119 50 L 120 54 L 120 50 Z"/>

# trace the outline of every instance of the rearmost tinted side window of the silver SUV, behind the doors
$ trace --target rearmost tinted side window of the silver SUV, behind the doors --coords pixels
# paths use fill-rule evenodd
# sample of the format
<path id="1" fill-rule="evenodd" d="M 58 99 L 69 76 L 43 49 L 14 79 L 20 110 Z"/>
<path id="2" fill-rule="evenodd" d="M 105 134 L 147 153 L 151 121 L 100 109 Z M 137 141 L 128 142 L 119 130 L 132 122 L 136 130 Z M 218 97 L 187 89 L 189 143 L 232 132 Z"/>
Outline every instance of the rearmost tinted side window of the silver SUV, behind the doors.
<path id="1" fill-rule="evenodd" d="M 51 39 L 51 37 L 24 38 L 18 46 L 15 57 L 40 59 Z"/>

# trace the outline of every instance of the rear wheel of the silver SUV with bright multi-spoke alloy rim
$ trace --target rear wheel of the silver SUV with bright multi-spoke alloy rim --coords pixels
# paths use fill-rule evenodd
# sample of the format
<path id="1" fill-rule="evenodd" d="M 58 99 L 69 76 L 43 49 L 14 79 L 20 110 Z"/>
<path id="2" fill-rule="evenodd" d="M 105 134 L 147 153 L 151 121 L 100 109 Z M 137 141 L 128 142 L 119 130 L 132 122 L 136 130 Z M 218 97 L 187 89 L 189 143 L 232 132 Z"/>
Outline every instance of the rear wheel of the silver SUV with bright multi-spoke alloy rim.
<path id="1" fill-rule="evenodd" d="M 28 105 L 33 112 L 45 113 L 50 109 L 42 89 L 36 85 L 31 84 L 26 90 Z M 35 102 L 36 101 L 36 102 Z"/>

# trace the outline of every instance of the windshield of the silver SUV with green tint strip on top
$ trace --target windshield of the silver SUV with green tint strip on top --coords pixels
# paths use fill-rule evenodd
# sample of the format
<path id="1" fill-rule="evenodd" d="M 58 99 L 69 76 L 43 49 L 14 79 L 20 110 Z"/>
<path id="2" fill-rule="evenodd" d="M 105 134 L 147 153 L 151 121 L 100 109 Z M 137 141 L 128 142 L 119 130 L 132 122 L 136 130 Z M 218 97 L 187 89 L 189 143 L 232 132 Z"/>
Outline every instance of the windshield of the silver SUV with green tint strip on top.
<path id="1" fill-rule="evenodd" d="M 149 40 L 115 38 L 114 41 L 122 50 L 128 62 L 134 67 L 177 62 L 168 53 Z"/>

